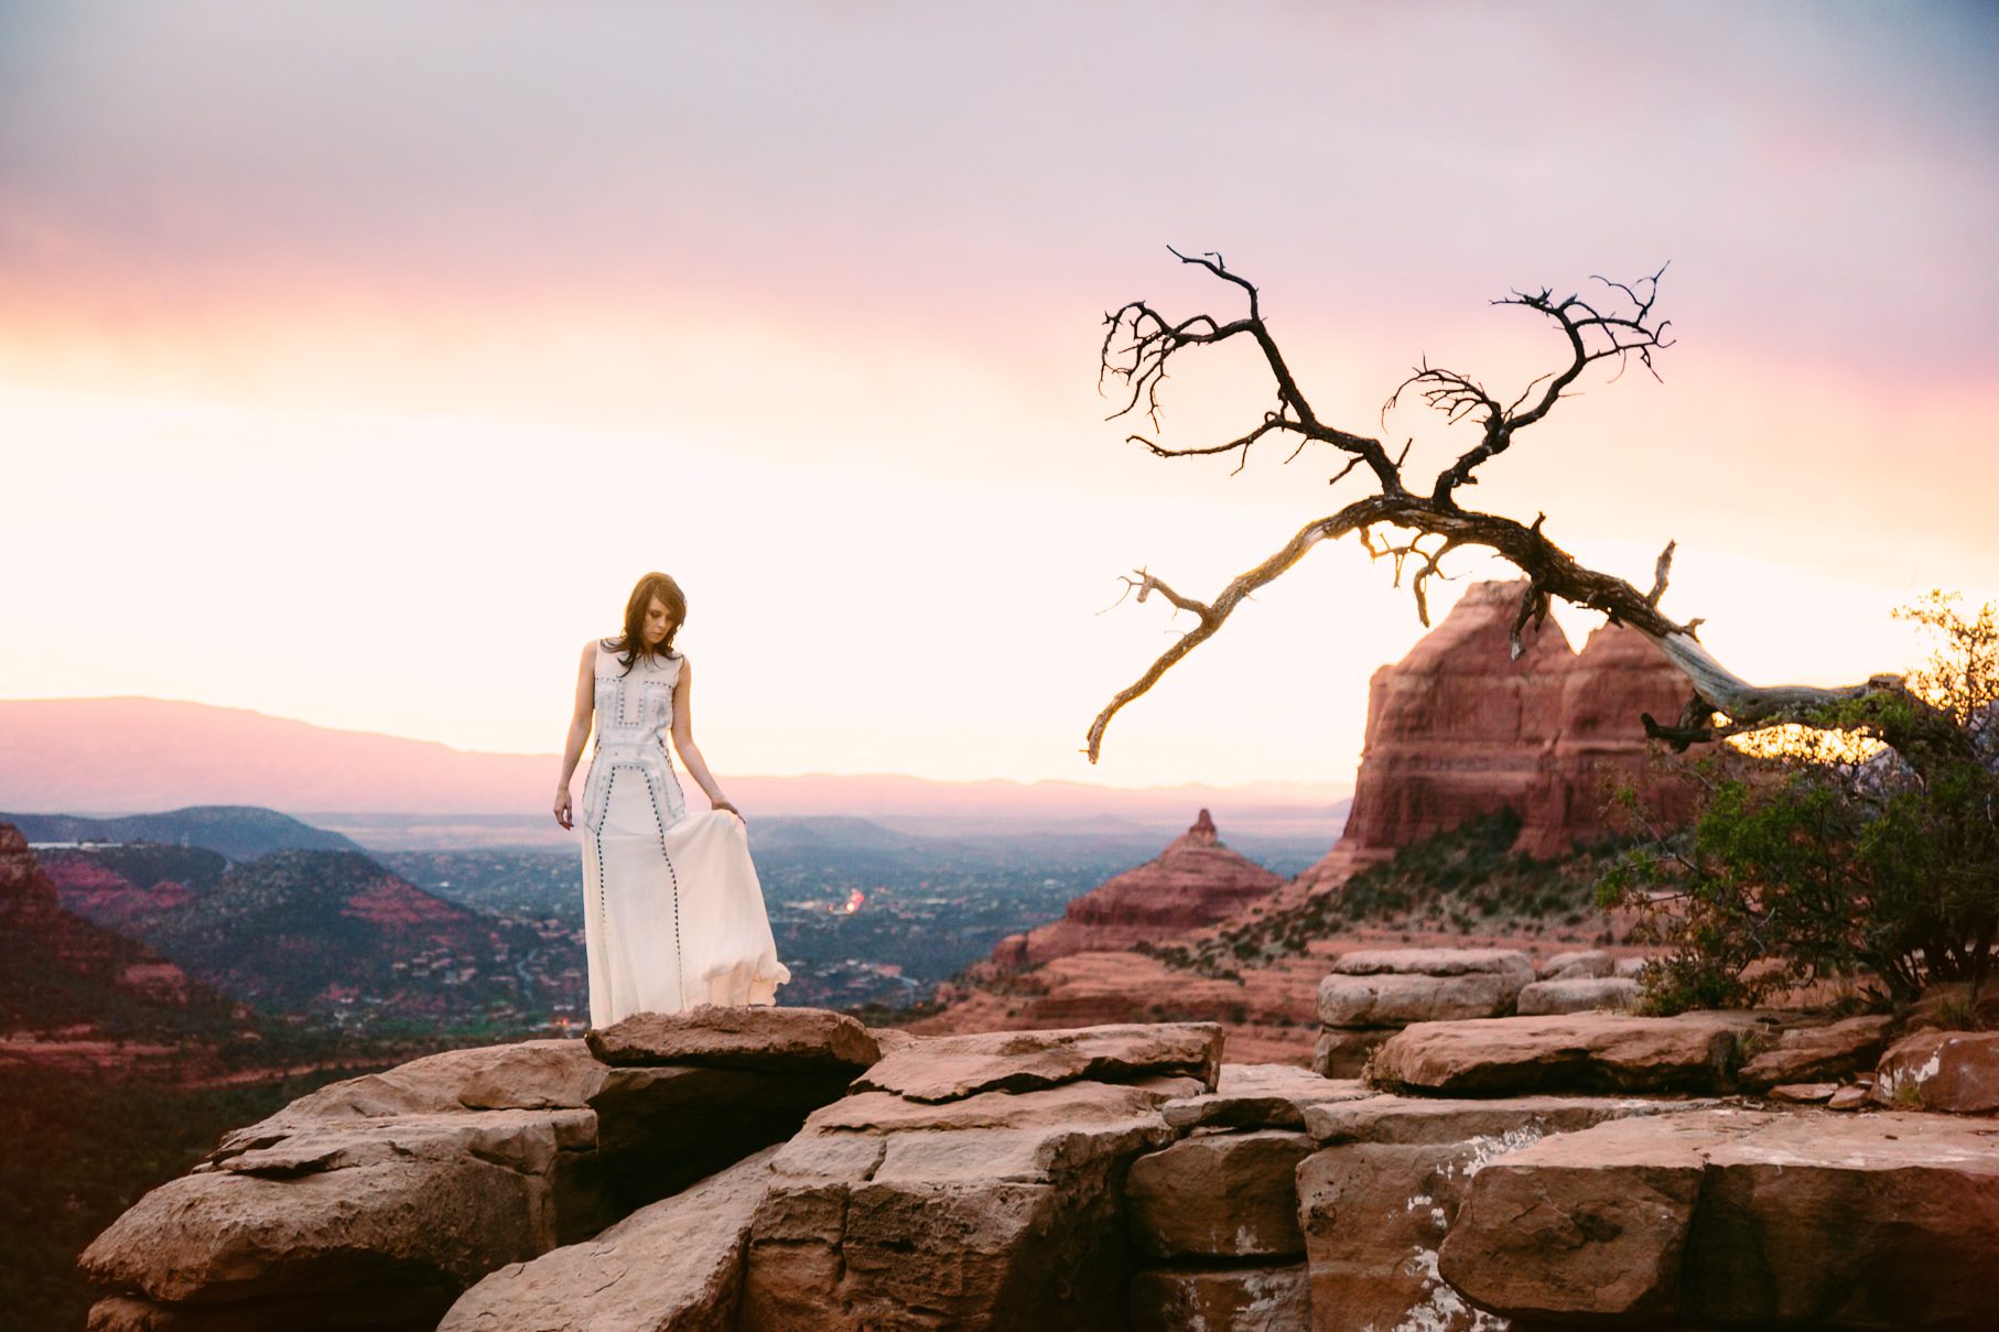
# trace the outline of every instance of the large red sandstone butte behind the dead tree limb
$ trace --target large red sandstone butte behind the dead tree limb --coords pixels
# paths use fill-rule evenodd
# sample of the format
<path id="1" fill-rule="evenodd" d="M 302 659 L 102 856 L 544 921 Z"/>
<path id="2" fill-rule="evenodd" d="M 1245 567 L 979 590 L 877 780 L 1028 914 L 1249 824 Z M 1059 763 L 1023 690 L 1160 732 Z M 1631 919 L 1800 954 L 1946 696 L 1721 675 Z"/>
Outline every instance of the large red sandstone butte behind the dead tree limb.
<path id="1" fill-rule="evenodd" d="M 1577 654 L 1553 620 L 1523 630 L 1513 660 L 1507 630 L 1525 590 L 1523 580 L 1471 586 L 1409 656 L 1373 674 L 1353 812 L 1301 884 L 1501 806 L 1521 816 L 1517 850 L 1553 856 L 1603 836 L 1611 782 L 1639 786 L 1665 822 L 1691 816 L 1693 792 L 1647 772 L 1639 720 L 1679 716 L 1685 676 L 1643 634 L 1603 626 Z"/>

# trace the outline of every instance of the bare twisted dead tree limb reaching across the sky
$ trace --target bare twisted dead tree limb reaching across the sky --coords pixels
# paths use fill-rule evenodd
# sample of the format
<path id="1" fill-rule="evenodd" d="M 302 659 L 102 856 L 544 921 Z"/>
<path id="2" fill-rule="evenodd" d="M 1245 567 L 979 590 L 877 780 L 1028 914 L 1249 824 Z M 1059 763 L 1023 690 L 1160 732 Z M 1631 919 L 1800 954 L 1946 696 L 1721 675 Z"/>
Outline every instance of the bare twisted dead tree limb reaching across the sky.
<path id="1" fill-rule="evenodd" d="M 1105 314 L 1103 348 L 1097 364 L 1097 384 L 1119 384 L 1123 404 L 1111 418 L 1125 416 L 1139 408 L 1159 424 L 1159 386 L 1165 380 L 1167 364 L 1181 352 L 1197 346 L 1211 346 L 1231 338 L 1247 338 L 1257 346 L 1269 366 L 1275 406 L 1263 412 L 1263 420 L 1227 444 L 1205 448 L 1165 448 L 1151 438 L 1131 436 L 1161 458 L 1211 456 L 1241 452 L 1237 470 L 1249 458 L 1249 446 L 1271 434 L 1295 436 L 1297 448 L 1323 444 L 1341 454 L 1341 468 L 1331 484 L 1339 484 L 1357 468 L 1373 478 L 1375 494 L 1359 498 L 1345 508 L 1317 518 L 1299 528 L 1275 554 L 1255 568 L 1231 578 L 1213 600 L 1201 602 L 1167 588 L 1159 578 L 1137 570 L 1137 580 L 1125 580 L 1137 588 L 1137 600 L 1157 590 L 1173 606 L 1195 614 L 1197 624 L 1181 634 L 1157 660 L 1095 716 L 1087 732 L 1083 754 L 1097 762 L 1103 748 L 1103 730 L 1109 720 L 1131 700 L 1145 694 L 1159 678 L 1193 648 L 1213 638 L 1227 622 L 1229 614 L 1257 588 L 1283 576 L 1305 552 L 1323 540 L 1337 540 L 1359 534 L 1361 544 L 1373 558 L 1387 558 L 1395 570 L 1395 584 L 1409 574 L 1409 592 L 1415 598 L 1417 618 L 1429 624 L 1427 584 L 1445 576 L 1439 562 L 1445 554 L 1469 546 L 1491 550 L 1527 576 L 1527 592 L 1513 618 L 1513 654 L 1519 654 L 1519 636 L 1529 622 L 1541 624 L 1547 618 L 1549 602 L 1561 598 L 1573 606 L 1601 612 L 1611 624 L 1623 624 L 1653 640 L 1691 686 L 1691 700 L 1677 720 L 1661 724 L 1645 716 L 1647 734 L 1661 738 L 1675 748 L 1719 740 L 1731 734 L 1745 734 L 1779 724 L 1799 724 L 1819 730 L 1849 730 L 1869 734 L 1895 748 L 1911 766 L 1923 770 L 1927 764 L 1965 758 L 1965 732 L 1951 718 L 1915 696 L 1901 676 L 1873 676 L 1865 684 L 1845 688 L 1817 688 L 1803 684 L 1755 686 L 1735 676 L 1717 662 L 1695 638 L 1701 620 L 1685 624 L 1667 618 L 1659 602 L 1667 590 L 1667 576 L 1673 566 L 1675 544 L 1667 542 L 1653 568 L 1649 590 L 1579 564 L 1569 552 L 1557 546 L 1543 532 L 1545 514 L 1531 524 L 1515 522 L 1501 514 L 1467 510 L 1457 502 L 1457 492 L 1477 484 L 1477 470 L 1491 458 L 1511 448 L 1513 438 L 1547 418 L 1555 404 L 1569 396 L 1577 378 L 1597 362 L 1617 362 L 1621 376 L 1635 358 L 1657 378 L 1653 352 L 1671 346 L 1667 336 L 1669 320 L 1655 316 L 1659 276 L 1653 272 L 1637 282 L 1611 282 L 1593 278 L 1603 286 L 1603 294 L 1591 300 L 1581 296 L 1555 298 L 1551 288 L 1539 292 L 1513 292 L 1493 304 L 1521 306 L 1549 320 L 1567 344 L 1567 360 L 1555 370 L 1537 376 L 1511 402 L 1499 398 L 1469 374 L 1441 366 L 1419 364 L 1383 406 L 1383 422 L 1405 392 L 1441 412 L 1451 424 L 1465 424 L 1477 430 L 1477 442 L 1465 448 L 1435 480 L 1427 492 L 1413 490 L 1403 480 L 1407 446 L 1397 456 L 1389 456 L 1381 440 L 1349 432 L 1327 424 L 1313 410 L 1285 364 L 1275 338 L 1263 322 L 1257 288 L 1241 274 L 1229 272 L 1221 256 L 1205 252 L 1197 256 L 1171 252 L 1181 264 L 1205 268 L 1215 278 L 1233 284 L 1247 298 L 1247 314 L 1233 320 L 1219 320 L 1209 314 L 1195 314 L 1183 320 L 1167 320 L 1149 302 L 1133 300 Z M 1617 376 L 1611 376 L 1617 378 Z M 1295 450 L 1293 450 L 1293 456 Z M 1377 536 L 1377 530 L 1383 534 Z M 1425 544 L 1425 538 L 1437 538 Z"/>

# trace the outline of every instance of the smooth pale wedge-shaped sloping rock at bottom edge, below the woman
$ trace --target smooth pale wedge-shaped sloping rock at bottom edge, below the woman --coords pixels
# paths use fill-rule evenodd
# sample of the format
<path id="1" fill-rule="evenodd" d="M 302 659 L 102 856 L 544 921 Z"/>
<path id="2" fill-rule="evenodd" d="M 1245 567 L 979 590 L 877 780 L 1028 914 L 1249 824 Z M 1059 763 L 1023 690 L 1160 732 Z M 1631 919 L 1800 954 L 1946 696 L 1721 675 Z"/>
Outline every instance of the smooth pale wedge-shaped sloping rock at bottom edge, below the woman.
<path id="1" fill-rule="evenodd" d="M 706 1332 L 736 1320 L 764 1148 L 582 1244 L 490 1272 L 438 1332 Z"/>

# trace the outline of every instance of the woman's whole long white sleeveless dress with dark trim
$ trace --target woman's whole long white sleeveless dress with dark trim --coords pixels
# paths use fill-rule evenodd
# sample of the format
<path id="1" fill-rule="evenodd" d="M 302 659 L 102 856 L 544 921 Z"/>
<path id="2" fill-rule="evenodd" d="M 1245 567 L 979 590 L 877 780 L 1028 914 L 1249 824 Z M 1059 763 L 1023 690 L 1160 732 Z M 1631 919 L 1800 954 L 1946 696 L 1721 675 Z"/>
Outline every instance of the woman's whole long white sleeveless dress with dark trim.
<path id="1" fill-rule="evenodd" d="M 750 834 L 690 814 L 668 758 L 686 656 L 632 670 L 598 642 L 596 750 L 584 780 L 584 954 L 590 1026 L 694 1004 L 772 1004 L 792 978 L 764 912 Z"/>

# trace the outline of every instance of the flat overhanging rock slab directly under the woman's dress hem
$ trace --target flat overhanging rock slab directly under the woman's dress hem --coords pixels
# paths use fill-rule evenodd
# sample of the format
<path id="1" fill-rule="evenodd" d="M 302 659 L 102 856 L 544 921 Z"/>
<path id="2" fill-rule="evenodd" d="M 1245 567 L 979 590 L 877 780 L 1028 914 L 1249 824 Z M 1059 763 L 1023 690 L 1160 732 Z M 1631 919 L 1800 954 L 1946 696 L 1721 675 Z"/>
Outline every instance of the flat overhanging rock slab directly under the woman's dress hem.
<path id="1" fill-rule="evenodd" d="M 700 1064 L 708 1068 L 852 1070 L 882 1058 L 876 1038 L 830 1008 L 732 1008 L 636 1012 L 584 1040 L 606 1064 Z"/>

